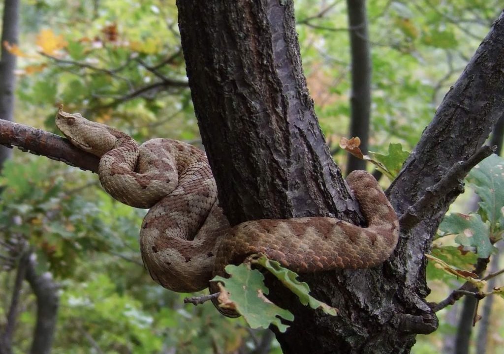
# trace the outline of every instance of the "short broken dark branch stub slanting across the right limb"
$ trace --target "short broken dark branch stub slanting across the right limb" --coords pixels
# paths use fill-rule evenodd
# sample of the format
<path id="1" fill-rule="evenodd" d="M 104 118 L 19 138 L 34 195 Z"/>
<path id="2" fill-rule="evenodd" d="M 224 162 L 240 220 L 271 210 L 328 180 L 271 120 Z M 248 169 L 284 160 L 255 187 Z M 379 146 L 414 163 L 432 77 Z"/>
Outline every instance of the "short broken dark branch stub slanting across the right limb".
<path id="1" fill-rule="evenodd" d="M 432 206 L 449 192 L 460 186 L 463 178 L 471 169 L 486 157 L 490 156 L 496 147 L 482 146 L 467 161 L 460 161 L 453 165 L 448 173 L 432 187 L 425 189 L 424 195 L 415 204 L 408 207 L 406 212 L 399 218 L 401 230 L 409 230 L 418 224 L 428 214 Z"/>

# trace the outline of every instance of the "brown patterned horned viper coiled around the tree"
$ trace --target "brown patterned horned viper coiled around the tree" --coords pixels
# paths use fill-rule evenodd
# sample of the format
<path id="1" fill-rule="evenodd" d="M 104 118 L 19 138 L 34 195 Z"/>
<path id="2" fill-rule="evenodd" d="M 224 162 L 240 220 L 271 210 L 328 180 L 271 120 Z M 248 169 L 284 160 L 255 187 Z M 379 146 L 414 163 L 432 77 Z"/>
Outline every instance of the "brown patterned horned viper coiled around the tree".
<path id="1" fill-rule="evenodd" d="M 367 228 L 326 217 L 255 220 L 230 227 L 217 205 L 217 187 L 203 151 L 160 138 L 139 147 L 128 134 L 79 113 L 59 111 L 56 125 L 73 145 L 100 157 L 100 182 L 111 196 L 150 208 L 140 231 L 142 258 L 152 278 L 167 289 L 203 290 L 226 264 L 254 253 L 296 272 L 314 272 L 373 267 L 396 247 L 396 213 L 367 172 L 354 171 L 346 179 Z"/>

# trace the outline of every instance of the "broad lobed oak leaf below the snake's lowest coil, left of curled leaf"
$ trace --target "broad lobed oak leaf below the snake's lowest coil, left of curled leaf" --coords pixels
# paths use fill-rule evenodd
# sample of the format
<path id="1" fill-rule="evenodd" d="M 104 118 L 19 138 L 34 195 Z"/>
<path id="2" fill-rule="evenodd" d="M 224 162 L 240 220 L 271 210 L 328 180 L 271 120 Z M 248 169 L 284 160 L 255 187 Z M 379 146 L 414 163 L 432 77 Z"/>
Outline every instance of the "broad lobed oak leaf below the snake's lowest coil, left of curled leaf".
<path id="1" fill-rule="evenodd" d="M 212 281 L 224 284 L 225 291 L 229 293 L 236 310 L 243 316 L 250 328 L 268 328 L 271 324 L 278 327 L 280 332 L 285 332 L 289 326 L 282 324 L 280 318 L 293 321 L 294 315 L 272 302 L 265 295 L 269 290 L 264 285 L 264 276 L 259 270 L 250 269 L 246 264 L 227 265 L 226 272 L 230 278 L 216 276 Z"/>

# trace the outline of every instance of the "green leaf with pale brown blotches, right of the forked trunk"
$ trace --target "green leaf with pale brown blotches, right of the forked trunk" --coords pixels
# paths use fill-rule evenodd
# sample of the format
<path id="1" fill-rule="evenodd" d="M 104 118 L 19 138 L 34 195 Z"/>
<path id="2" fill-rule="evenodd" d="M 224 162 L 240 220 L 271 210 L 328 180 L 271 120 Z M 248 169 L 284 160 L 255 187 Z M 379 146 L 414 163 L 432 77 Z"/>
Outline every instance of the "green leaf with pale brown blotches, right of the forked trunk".
<path id="1" fill-rule="evenodd" d="M 481 258 L 487 258 L 495 250 L 490 243 L 488 225 L 481 220 L 479 214 L 464 215 L 452 213 L 445 217 L 439 230 L 457 235 L 455 242 L 463 246 L 475 247 Z"/>

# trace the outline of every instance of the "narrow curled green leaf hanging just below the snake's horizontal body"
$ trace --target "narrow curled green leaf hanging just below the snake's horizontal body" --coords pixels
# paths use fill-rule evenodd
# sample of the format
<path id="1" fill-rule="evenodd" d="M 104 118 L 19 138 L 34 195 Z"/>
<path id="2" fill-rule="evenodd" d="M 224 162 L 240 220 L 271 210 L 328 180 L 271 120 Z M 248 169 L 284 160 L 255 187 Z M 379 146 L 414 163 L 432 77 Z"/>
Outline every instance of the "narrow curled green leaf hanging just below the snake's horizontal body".
<path id="1" fill-rule="evenodd" d="M 308 287 L 308 284 L 297 280 L 297 273 L 282 267 L 279 262 L 268 259 L 264 255 L 259 257 L 255 262 L 268 269 L 282 282 L 285 287 L 296 294 L 301 304 L 305 306 L 309 305 L 312 309 L 321 309 L 328 315 L 336 316 L 338 314 L 338 310 L 334 307 L 314 299 L 311 295 L 309 295 L 310 288 Z"/>

